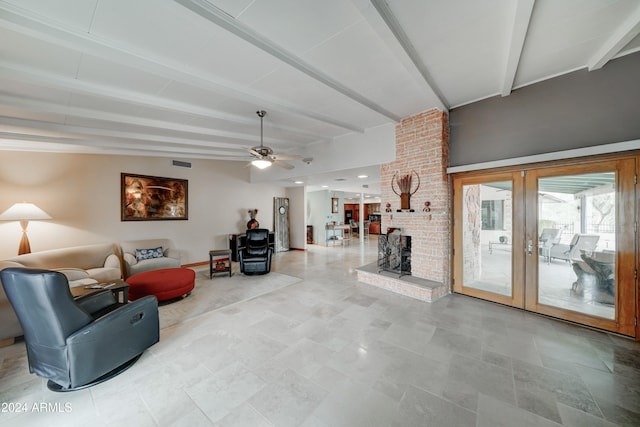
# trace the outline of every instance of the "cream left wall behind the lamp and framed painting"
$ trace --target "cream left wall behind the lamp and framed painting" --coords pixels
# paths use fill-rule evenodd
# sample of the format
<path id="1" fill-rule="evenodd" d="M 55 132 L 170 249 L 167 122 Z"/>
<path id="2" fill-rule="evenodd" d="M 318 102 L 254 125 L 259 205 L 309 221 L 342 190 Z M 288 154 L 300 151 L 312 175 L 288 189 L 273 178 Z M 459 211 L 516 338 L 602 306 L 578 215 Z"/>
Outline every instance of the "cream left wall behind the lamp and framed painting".
<path id="1" fill-rule="evenodd" d="M 184 264 L 207 261 L 210 249 L 226 248 L 229 234 L 246 229 L 249 209 L 258 209 L 260 225 L 272 229 L 273 197 L 290 197 L 290 221 L 304 221 L 304 216 L 294 218 L 304 201 L 282 187 L 250 183 L 243 162 L 189 161 L 191 169 L 171 166 L 167 158 L 3 151 L 0 212 L 27 201 L 53 217 L 29 223 L 32 252 L 166 237 L 184 251 Z M 189 220 L 120 221 L 121 172 L 187 179 Z M 298 228 L 304 227 L 292 229 L 293 242 L 304 238 Z M 0 221 L 0 259 L 17 254 L 20 235 L 17 222 Z"/>

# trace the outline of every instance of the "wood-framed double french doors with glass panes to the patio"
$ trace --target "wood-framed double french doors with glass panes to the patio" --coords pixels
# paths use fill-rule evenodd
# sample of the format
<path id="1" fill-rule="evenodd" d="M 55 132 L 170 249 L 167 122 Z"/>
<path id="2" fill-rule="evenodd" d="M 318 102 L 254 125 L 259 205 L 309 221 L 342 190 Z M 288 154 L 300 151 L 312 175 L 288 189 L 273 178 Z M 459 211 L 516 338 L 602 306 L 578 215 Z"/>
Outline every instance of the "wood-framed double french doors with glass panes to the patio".
<path id="1" fill-rule="evenodd" d="M 454 292 L 636 336 L 635 169 L 454 176 Z"/>

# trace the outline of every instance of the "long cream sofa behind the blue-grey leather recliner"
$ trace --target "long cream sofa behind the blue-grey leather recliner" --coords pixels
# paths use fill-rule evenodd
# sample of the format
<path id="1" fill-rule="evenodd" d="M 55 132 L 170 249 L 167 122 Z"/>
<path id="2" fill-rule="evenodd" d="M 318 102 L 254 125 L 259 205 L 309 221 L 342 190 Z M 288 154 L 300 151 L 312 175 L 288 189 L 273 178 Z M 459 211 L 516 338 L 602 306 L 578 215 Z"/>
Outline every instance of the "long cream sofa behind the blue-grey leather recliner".
<path id="1" fill-rule="evenodd" d="M 74 287 L 122 277 L 118 254 L 118 247 L 113 243 L 52 249 L 0 261 L 0 270 L 27 267 L 60 271 L 69 279 L 69 286 Z M 0 341 L 20 335 L 22 328 L 0 283 Z"/>

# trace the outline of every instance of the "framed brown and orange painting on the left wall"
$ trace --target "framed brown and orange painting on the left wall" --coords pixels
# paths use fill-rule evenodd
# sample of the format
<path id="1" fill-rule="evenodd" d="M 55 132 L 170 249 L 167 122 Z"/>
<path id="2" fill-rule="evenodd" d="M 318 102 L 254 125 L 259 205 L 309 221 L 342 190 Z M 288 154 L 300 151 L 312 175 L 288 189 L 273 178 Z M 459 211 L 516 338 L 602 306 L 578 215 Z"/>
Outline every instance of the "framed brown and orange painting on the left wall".
<path id="1" fill-rule="evenodd" d="M 121 173 L 120 220 L 188 220 L 188 196 L 186 179 Z"/>

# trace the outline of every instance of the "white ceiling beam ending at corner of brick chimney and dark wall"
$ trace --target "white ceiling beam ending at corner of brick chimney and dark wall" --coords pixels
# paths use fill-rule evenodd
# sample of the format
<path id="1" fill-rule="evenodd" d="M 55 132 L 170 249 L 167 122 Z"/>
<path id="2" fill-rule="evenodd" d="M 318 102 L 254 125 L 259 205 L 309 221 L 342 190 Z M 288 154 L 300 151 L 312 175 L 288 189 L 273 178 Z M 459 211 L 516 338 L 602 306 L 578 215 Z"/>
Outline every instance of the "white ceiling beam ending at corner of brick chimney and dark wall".
<path id="1" fill-rule="evenodd" d="M 442 90 L 440 90 L 440 87 L 431 76 L 431 73 L 420 57 L 420 54 L 413 46 L 413 43 L 411 43 L 411 40 L 409 39 L 407 33 L 404 32 L 402 25 L 400 24 L 400 22 L 398 22 L 398 19 L 391 11 L 391 8 L 387 4 L 387 2 L 385 0 L 371 0 L 371 4 L 378 12 L 378 17 L 382 19 L 387 30 L 393 34 L 395 41 L 399 45 L 399 48 L 391 46 L 391 49 L 396 53 L 396 56 L 399 56 L 398 52 L 403 53 L 401 56 L 405 56 L 408 59 L 402 61 L 405 64 L 405 68 L 407 68 L 409 72 L 417 71 L 417 74 L 420 76 L 418 83 L 420 83 L 421 86 L 425 87 L 426 90 L 433 94 L 433 97 L 440 103 L 439 108 L 441 110 L 447 111 L 450 108 L 449 102 L 442 93 Z M 367 20 L 369 24 L 380 34 L 381 31 L 384 30 L 380 25 L 377 25 L 377 23 L 374 22 L 373 19 L 373 16 L 367 14 Z M 380 34 L 380 36 L 387 42 L 387 45 L 389 45 L 389 37 L 386 37 L 385 34 Z M 402 60 L 402 58 L 400 59 Z M 407 67 L 407 64 L 410 64 L 410 66 Z M 413 72 L 412 74 L 416 73 Z"/>

